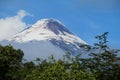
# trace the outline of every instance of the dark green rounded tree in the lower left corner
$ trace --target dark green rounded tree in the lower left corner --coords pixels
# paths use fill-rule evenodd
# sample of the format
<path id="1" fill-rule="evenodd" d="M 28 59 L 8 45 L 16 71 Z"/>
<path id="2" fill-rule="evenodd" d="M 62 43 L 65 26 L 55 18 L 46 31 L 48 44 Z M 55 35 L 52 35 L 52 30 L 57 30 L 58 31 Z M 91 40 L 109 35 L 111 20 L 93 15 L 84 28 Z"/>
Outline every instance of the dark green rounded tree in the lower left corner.
<path id="1" fill-rule="evenodd" d="M 16 50 L 11 45 L 0 46 L 0 80 L 18 78 L 17 71 L 21 68 L 22 58 L 20 49 Z"/>

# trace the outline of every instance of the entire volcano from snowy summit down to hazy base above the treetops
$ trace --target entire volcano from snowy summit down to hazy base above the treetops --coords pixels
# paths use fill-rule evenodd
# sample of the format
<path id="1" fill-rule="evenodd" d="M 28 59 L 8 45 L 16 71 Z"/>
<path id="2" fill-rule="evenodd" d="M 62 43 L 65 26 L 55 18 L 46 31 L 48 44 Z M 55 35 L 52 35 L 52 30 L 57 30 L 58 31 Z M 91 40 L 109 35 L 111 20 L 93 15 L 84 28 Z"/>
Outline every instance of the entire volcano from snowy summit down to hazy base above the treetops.
<path id="1" fill-rule="evenodd" d="M 25 57 L 48 57 L 53 54 L 58 58 L 65 52 L 75 55 L 80 52 L 80 45 L 86 44 L 70 32 L 65 25 L 56 19 L 41 19 L 31 27 L 16 34 L 8 41 L 24 51 Z"/>

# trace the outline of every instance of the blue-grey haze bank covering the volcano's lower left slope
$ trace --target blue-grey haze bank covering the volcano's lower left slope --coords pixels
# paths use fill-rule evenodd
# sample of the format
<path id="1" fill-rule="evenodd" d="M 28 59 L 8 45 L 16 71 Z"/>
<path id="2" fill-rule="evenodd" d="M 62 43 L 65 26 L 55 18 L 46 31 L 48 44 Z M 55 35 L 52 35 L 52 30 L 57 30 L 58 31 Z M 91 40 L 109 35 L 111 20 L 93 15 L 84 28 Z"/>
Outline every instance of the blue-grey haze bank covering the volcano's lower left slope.
<path id="1" fill-rule="evenodd" d="M 54 55 L 55 59 L 62 58 L 64 52 L 57 46 L 54 46 L 49 41 L 28 41 L 28 42 L 14 42 L 4 40 L 2 45 L 11 44 L 16 49 L 21 49 L 24 52 L 24 59 L 28 61 L 35 60 L 36 58 L 47 59 L 51 55 Z"/>

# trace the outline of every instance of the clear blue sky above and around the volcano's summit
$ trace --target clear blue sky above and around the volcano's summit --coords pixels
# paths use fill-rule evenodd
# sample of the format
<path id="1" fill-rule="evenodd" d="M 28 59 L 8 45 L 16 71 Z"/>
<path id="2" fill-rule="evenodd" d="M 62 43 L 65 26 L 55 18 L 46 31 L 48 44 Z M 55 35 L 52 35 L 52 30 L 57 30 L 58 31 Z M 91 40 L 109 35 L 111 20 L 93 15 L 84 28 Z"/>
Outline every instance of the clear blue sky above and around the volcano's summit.
<path id="1" fill-rule="evenodd" d="M 22 19 L 21 26 L 43 18 L 58 19 L 89 44 L 96 41 L 94 36 L 109 32 L 109 44 L 120 48 L 119 0 L 0 0 L 1 24 L 13 20 L 12 17 L 21 24 L 18 16 Z"/>

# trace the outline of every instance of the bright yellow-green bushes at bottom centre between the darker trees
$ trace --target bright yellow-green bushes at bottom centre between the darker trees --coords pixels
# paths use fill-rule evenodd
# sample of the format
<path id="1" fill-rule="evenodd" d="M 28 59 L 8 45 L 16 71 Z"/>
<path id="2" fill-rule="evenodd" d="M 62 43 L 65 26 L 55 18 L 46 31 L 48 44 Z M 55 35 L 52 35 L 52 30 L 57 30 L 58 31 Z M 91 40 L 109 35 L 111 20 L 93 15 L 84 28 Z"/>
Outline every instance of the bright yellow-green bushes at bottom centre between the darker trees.
<path id="1" fill-rule="evenodd" d="M 25 80 L 95 80 L 89 71 L 79 66 L 76 62 L 66 63 L 64 60 L 42 61 Z"/>

